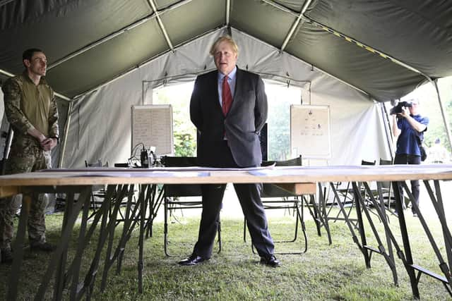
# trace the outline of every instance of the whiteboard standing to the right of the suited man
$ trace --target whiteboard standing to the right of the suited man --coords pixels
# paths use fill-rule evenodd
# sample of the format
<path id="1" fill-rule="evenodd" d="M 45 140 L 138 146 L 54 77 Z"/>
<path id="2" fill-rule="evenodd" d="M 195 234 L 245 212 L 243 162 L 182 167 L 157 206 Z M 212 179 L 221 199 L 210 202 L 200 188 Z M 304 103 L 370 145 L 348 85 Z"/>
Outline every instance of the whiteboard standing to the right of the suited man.
<path id="1" fill-rule="evenodd" d="M 292 156 L 330 159 L 330 107 L 298 104 L 290 106 Z"/>

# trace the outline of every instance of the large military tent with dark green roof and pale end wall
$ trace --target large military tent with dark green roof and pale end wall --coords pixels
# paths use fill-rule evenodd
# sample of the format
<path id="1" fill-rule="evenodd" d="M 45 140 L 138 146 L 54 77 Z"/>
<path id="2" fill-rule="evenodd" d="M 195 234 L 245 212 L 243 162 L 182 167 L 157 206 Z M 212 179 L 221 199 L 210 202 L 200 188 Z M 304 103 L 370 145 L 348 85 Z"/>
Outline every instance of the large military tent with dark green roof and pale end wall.
<path id="1" fill-rule="evenodd" d="M 382 102 L 452 75 L 451 27 L 446 0 L 1 0 L 0 77 L 44 49 L 64 132 L 54 165 L 124 161 L 143 82 L 213 70 L 208 49 L 230 34 L 239 68 L 330 106 L 330 164 L 359 164 L 391 157 Z"/>

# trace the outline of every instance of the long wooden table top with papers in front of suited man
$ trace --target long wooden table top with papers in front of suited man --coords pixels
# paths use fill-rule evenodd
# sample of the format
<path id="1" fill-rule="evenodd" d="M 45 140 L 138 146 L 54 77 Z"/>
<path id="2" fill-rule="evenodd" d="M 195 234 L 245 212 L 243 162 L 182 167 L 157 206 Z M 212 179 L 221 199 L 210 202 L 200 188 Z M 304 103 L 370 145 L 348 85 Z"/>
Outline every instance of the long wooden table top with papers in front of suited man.
<path id="1" fill-rule="evenodd" d="M 384 166 L 273 166 L 270 168 L 83 168 L 0 176 L 0 186 L 318 183 L 452 180 L 452 164 Z"/>

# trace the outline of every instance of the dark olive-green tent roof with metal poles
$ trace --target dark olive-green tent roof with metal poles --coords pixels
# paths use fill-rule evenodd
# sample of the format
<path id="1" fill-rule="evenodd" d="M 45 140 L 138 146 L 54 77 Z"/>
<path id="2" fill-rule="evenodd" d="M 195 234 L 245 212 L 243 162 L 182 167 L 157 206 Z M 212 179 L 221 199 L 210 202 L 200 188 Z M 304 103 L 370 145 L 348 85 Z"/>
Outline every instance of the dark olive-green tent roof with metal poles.
<path id="1" fill-rule="evenodd" d="M 72 98 L 225 26 L 378 101 L 452 75 L 446 0 L 4 0 L 0 70 L 20 73 L 23 50 L 39 47 L 52 87 Z"/>

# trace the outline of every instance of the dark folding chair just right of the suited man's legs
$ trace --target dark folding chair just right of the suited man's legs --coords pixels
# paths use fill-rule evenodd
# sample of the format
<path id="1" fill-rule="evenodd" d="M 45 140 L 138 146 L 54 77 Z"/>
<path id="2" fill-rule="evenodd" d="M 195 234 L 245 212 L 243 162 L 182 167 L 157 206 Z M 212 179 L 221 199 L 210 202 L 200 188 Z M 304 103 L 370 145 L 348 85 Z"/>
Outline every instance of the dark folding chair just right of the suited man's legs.
<path id="1" fill-rule="evenodd" d="M 302 156 L 298 156 L 294 159 L 286 161 L 263 161 L 262 166 L 269 166 L 275 164 L 275 166 L 302 166 Z M 284 209 L 288 211 L 293 210 L 292 214 L 296 216 L 295 219 L 295 232 L 293 238 L 287 238 L 282 240 L 275 240 L 274 242 L 295 242 L 298 238 L 298 229 L 301 225 L 304 235 L 304 250 L 293 252 L 280 252 L 279 254 L 302 254 L 307 251 L 307 235 L 306 228 L 304 226 L 303 215 L 303 196 L 294 195 L 291 192 L 278 187 L 278 185 L 263 183 L 261 199 L 264 209 Z M 244 220 L 244 241 L 246 241 L 246 219 Z M 251 250 L 254 252 L 254 246 L 251 244 Z"/>

